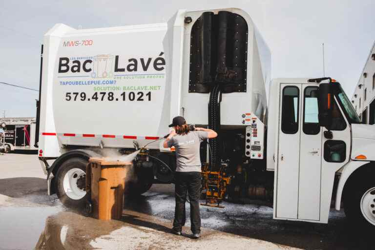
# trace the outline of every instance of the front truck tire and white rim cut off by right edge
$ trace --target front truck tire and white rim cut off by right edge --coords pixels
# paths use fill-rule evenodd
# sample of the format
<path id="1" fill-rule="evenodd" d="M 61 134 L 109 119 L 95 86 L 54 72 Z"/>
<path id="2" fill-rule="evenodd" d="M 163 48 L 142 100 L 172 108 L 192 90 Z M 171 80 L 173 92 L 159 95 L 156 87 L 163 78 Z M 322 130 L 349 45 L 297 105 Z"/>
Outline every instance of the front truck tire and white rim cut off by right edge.
<path id="1" fill-rule="evenodd" d="M 344 190 L 344 211 L 354 229 L 375 230 L 374 171 L 353 176 Z"/>

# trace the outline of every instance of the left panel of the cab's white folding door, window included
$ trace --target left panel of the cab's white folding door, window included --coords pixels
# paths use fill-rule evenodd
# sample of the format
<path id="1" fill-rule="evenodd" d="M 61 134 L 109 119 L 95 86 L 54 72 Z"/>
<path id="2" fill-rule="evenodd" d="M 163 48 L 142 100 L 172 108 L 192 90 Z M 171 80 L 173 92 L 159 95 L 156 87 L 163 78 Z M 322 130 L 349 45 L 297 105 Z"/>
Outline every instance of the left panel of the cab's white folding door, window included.
<path id="1" fill-rule="evenodd" d="M 276 217 L 297 219 L 302 84 L 281 84 Z"/>

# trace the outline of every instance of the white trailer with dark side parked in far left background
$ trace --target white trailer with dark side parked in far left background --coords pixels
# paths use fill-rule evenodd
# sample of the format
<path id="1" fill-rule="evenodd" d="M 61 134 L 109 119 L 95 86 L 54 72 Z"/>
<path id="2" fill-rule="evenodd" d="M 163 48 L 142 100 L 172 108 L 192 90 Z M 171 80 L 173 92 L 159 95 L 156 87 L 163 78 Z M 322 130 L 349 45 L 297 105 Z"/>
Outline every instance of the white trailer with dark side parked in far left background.
<path id="1" fill-rule="evenodd" d="M 35 145 L 36 118 L 0 118 L 4 129 L 4 152 L 13 150 L 38 150 Z"/>

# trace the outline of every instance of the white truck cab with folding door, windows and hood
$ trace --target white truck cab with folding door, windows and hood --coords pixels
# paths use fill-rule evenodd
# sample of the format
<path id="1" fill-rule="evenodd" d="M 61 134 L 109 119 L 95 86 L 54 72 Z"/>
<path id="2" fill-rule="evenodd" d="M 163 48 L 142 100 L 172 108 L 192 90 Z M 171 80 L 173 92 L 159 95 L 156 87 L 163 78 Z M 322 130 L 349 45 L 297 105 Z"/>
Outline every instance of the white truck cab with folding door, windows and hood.
<path id="1" fill-rule="evenodd" d="M 374 224 L 375 184 L 368 180 L 366 190 L 357 189 L 375 169 L 375 127 L 360 123 L 340 83 L 330 78 L 272 81 L 267 168 L 275 171 L 275 219 L 327 223 L 337 175 L 336 209 L 344 193 L 347 215 Z"/>

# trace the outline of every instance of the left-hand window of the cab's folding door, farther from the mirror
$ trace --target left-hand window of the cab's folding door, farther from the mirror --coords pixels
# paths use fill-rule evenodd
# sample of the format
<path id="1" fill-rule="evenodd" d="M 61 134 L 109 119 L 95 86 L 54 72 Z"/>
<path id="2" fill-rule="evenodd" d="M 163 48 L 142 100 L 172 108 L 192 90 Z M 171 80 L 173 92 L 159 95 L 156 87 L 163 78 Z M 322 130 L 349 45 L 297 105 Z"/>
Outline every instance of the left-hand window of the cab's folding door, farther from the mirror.
<path id="1" fill-rule="evenodd" d="M 281 131 L 285 134 L 295 134 L 298 131 L 299 122 L 299 88 L 284 87 L 282 100 Z"/>

